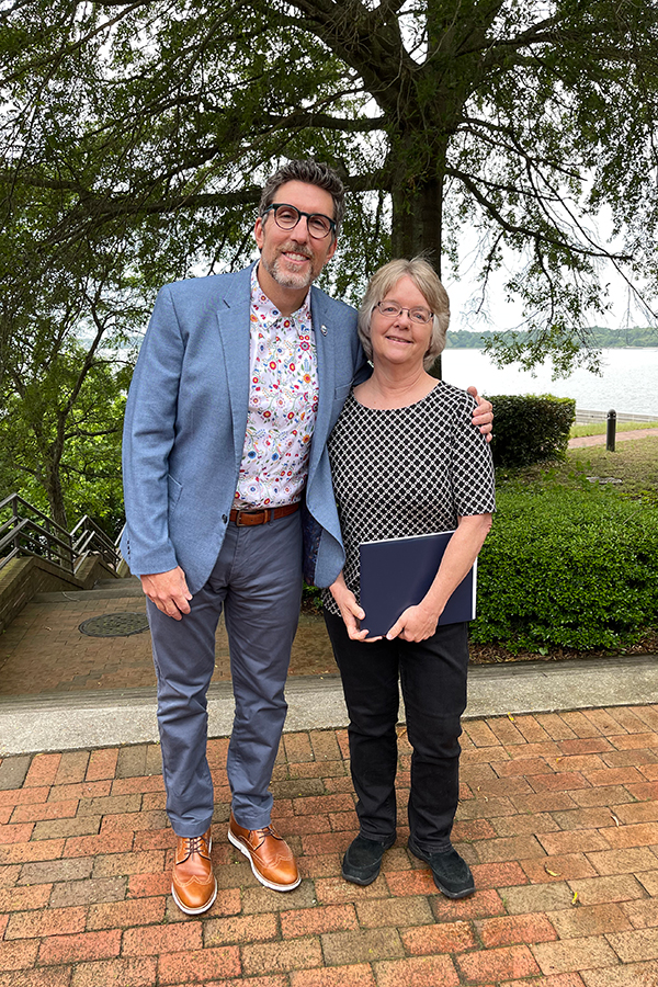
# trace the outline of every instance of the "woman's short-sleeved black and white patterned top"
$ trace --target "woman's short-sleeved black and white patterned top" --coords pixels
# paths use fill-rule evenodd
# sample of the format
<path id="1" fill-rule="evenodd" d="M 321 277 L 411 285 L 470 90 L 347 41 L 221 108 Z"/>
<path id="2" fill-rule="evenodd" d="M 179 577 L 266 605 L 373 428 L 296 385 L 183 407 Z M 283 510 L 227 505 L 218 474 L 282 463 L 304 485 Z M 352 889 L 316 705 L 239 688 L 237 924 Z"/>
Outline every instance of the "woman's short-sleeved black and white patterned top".
<path id="1" fill-rule="evenodd" d="M 348 397 L 327 449 L 343 575 L 358 600 L 361 542 L 450 531 L 460 515 L 496 509 L 491 452 L 472 423 L 474 407 L 443 381 L 406 408 L 375 410 Z M 328 589 L 322 601 L 340 615 Z"/>

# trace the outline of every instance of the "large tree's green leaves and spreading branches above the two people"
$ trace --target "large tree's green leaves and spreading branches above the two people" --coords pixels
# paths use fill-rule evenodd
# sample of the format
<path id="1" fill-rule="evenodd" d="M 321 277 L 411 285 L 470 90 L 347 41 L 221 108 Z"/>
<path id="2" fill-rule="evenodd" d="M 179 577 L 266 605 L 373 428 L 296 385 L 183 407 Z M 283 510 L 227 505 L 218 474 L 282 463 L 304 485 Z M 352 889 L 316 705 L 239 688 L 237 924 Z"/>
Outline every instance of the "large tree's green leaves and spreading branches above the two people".
<path id="1" fill-rule="evenodd" d="M 655 319 L 657 50 L 654 0 L 3 4 L 2 375 L 91 297 L 112 347 L 163 282 L 243 265 L 264 177 L 308 155 L 349 191 L 325 286 L 421 251 L 458 273 L 467 227 L 483 297 L 510 269 L 524 305 L 499 359 L 588 359 L 606 265 Z"/>

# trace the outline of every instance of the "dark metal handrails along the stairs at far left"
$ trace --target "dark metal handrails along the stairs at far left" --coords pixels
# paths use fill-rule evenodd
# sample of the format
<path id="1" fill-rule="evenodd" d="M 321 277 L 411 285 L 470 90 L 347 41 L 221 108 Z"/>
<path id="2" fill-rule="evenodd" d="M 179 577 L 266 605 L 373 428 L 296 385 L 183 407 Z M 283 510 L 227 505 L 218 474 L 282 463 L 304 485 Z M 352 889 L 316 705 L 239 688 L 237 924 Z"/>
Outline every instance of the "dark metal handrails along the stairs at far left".
<path id="1" fill-rule="evenodd" d="M 118 548 L 87 514 L 69 533 L 19 494 L 0 502 L 0 511 L 5 508 L 11 508 L 11 517 L 0 523 L 0 569 L 19 555 L 47 558 L 73 574 L 90 555 L 99 555 L 110 568 L 118 569 L 122 560 Z M 35 514 L 36 519 L 24 514 Z"/>

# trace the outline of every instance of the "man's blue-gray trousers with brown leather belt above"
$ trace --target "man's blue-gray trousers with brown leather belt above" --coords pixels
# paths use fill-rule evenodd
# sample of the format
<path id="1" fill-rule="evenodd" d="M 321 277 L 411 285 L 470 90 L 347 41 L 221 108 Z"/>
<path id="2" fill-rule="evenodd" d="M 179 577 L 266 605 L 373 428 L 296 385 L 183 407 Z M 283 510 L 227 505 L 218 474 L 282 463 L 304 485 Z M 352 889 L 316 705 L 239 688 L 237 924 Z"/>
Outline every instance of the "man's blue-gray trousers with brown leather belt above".
<path id="1" fill-rule="evenodd" d="M 213 818 L 206 693 L 223 610 L 236 704 L 227 758 L 232 812 L 247 829 L 270 822 L 269 785 L 287 711 L 284 685 L 300 598 L 297 511 L 254 527 L 229 523 L 215 568 L 181 621 L 147 600 L 167 813 L 177 836 L 201 836 Z"/>

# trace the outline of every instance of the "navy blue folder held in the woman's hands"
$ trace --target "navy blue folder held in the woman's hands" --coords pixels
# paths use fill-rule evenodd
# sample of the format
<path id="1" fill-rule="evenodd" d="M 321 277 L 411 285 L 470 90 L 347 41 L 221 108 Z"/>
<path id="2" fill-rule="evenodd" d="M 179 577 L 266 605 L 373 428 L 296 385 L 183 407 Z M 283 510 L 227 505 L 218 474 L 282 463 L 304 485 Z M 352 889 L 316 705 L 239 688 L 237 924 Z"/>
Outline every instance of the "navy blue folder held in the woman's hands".
<path id="1" fill-rule="evenodd" d="M 386 634 L 408 606 L 420 603 L 441 565 L 454 531 L 363 542 L 361 559 L 362 627 L 370 637 Z M 440 624 L 475 620 L 477 559 L 445 604 Z"/>

